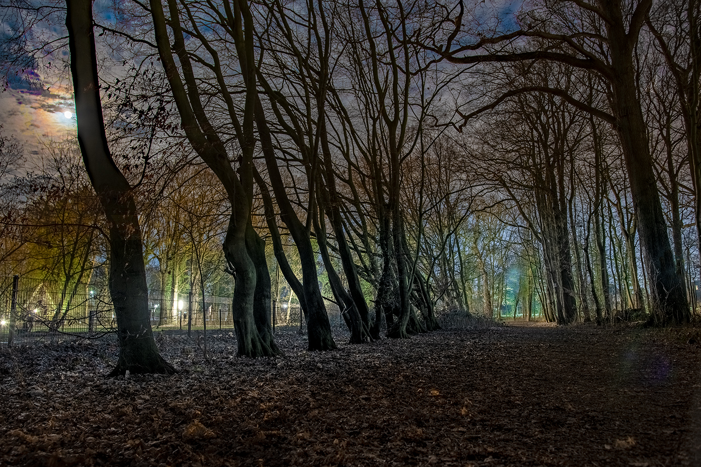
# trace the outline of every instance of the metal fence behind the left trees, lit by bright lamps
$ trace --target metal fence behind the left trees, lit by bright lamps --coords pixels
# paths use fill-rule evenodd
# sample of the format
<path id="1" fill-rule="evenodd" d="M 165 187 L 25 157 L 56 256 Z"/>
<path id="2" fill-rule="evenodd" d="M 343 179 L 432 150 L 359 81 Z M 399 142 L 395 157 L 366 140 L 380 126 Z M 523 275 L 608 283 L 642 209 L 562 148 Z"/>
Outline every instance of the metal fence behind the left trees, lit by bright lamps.
<path id="1" fill-rule="evenodd" d="M 232 297 L 149 290 L 151 327 L 158 330 L 231 329 Z M 299 306 L 271 306 L 274 327 L 304 327 Z M 327 308 L 341 325 L 338 307 Z M 0 278 L 0 344 L 114 336 L 114 307 L 106 284 Z"/>

